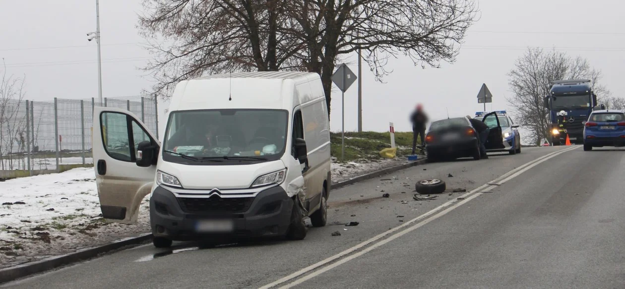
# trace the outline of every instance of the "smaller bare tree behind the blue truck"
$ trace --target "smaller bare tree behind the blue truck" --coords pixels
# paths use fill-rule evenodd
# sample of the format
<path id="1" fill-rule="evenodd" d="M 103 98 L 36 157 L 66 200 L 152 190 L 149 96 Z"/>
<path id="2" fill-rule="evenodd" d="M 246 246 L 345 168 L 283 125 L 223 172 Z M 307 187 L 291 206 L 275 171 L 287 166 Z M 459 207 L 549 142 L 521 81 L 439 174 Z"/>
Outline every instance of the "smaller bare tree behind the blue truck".
<path id="1" fill-rule="evenodd" d="M 513 96 L 507 101 L 514 107 L 519 124 L 531 132 L 532 142 L 538 145 L 549 135 L 549 110 L 543 106 L 543 98 L 549 94 L 553 81 L 591 79 L 597 96 L 610 94 L 606 87 L 599 84 L 601 71 L 592 69 L 587 59 L 570 57 L 564 52 L 528 48 L 516 60 L 508 76 Z"/>

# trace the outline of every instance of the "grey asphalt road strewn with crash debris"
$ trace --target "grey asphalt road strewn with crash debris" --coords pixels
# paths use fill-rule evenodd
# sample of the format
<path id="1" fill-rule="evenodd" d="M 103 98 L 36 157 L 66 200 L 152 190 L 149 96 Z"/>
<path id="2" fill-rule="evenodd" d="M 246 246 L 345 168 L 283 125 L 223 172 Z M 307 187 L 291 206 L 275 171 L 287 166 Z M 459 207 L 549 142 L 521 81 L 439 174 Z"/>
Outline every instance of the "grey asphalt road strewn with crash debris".
<path id="1" fill-rule="evenodd" d="M 624 155 L 542 147 L 420 165 L 332 191 L 336 225 L 303 241 L 146 245 L 4 287 L 623 288 Z M 413 200 L 428 177 L 467 192 Z"/>

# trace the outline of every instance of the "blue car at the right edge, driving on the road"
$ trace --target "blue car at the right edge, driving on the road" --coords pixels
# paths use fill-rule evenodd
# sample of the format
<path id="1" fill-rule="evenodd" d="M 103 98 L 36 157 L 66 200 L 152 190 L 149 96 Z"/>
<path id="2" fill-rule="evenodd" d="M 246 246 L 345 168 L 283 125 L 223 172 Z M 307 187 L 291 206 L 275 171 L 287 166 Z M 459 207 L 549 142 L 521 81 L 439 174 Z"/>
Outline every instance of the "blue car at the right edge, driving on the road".
<path id="1" fill-rule="evenodd" d="M 584 150 L 625 146 L 625 112 L 595 110 L 584 123 Z"/>

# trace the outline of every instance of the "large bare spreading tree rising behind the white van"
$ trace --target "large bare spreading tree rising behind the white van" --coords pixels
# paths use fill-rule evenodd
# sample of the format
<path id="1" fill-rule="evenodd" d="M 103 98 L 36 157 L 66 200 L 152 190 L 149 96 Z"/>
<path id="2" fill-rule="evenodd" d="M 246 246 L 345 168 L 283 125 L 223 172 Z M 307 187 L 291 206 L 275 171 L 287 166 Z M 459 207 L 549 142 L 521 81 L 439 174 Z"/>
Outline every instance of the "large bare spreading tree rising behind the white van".
<path id="1" fill-rule="evenodd" d="M 144 0 L 140 19 L 156 58 L 147 71 L 168 97 L 176 82 L 229 71 L 317 72 L 331 102 L 341 56 L 364 49 L 378 81 L 387 59 L 453 62 L 476 19 L 473 0 Z M 158 43 L 157 43 L 158 42 Z M 166 44 L 164 44 L 166 43 Z"/>

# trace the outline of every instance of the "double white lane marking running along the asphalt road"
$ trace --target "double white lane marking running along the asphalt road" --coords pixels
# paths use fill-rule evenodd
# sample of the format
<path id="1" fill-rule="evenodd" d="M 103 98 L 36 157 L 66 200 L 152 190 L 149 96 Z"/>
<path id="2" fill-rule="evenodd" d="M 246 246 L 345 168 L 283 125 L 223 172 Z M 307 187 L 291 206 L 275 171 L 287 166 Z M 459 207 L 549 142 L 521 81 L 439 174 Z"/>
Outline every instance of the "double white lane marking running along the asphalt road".
<path id="1" fill-rule="evenodd" d="M 563 154 L 564 152 L 567 152 L 569 150 L 574 150 L 574 149 L 577 149 L 577 147 L 571 147 L 571 148 L 567 148 L 567 149 L 558 150 L 556 152 L 551 152 L 550 154 L 547 154 L 547 155 L 544 155 L 542 157 L 539 157 L 538 159 L 531 160 L 530 162 L 527 162 L 526 164 L 521 165 L 520 167 L 517 167 L 516 169 L 511 170 L 511 171 L 507 172 L 506 174 L 502 175 L 501 177 L 498 177 L 497 179 L 494 179 L 494 180 L 492 180 L 491 182 L 488 182 L 488 183 L 489 184 L 499 184 L 499 185 L 501 185 L 503 182 L 506 182 L 507 180 L 510 180 L 510 179 L 512 179 L 512 178 L 514 178 L 514 177 L 516 177 L 516 176 L 518 176 L 520 174 L 522 174 L 522 172 L 526 172 L 527 170 L 531 169 L 532 167 L 534 167 L 535 165 L 537 165 L 537 164 L 539 164 L 541 162 L 544 162 L 545 160 L 551 159 L 552 157 L 556 157 L 556 155 Z M 408 227 L 408 226 L 412 225 L 412 223 L 417 222 L 419 220 L 422 220 L 423 218 L 426 218 L 426 217 L 428 217 L 428 216 L 438 212 L 442 208 L 449 207 L 450 205 L 454 205 L 454 206 L 452 206 L 450 208 L 447 208 L 447 210 L 444 210 L 443 212 L 435 215 L 434 217 L 432 217 L 429 220 L 426 220 L 426 221 L 421 222 L 421 223 L 417 223 L 416 225 L 414 225 L 414 228 L 411 227 L 411 228 L 407 228 L 406 230 L 404 230 L 404 231 L 406 231 L 405 233 L 410 232 L 410 231 L 412 231 L 412 230 L 414 230 L 416 228 L 421 227 L 422 225 L 425 225 L 426 223 L 431 222 L 432 220 L 434 220 L 434 219 L 436 219 L 438 217 L 441 217 L 442 215 L 445 215 L 447 212 L 451 211 L 453 208 L 459 207 L 460 205 L 462 205 L 462 204 L 464 204 L 466 202 L 469 202 L 469 200 L 472 200 L 473 198 L 477 197 L 477 195 L 472 195 L 472 194 L 474 194 L 476 192 L 482 192 L 482 191 L 486 191 L 486 190 L 491 190 L 492 188 L 495 188 L 495 187 L 496 186 L 494 186 L 494 185 L 487 185 L 487 184 L 481 185 L 480 187 L 477 187 L 477 189 L 471 190 L 471 192 L 467 192 L 464 195 L 461 195 L 460 198 L 464 198 L 464 200 L 459 201 L 459 200 L 457 200 L 457 198 L 454 198 L 453 200 L 450 200 L 449 202 L 446 202 L 446 203 L 444 203 L 444 204 L 442 204 L 442 205 L 440 205 L 440 206 L 430 210 L 429 212 L 426 212 L 426 213 L 420 215 L 419 217 L 416 217 L 416 218 L 414 218 L 412 220 L 409 220 L 408 222 L 405 222 L 404 224 L 402 224 L 400 226 L 392 228 L 391 230 L 387 230 L 386 232 L 381 233 L 379 235 L 376 235 L 375 237 L 370 238 L 369 240 L 366 240 L 365 242 L 359 243 L 358 245 L 356 245 L 354 247 L 351 247 L 351 248 L 349 248 L 349 249 L 347 249 L 347 250 L 345 250 L 345 251 L 343 251 L 341 253 L 338 253 L 338 254 L 336 254 L 336 255 L 334 255 L 332 257 L 326 258 L 325 260 L 322 260 L 320 262 L 314 263 L 314 264 L 312 264 L 312 265 L 310 265 L 310 266 L 308 266 L 306 268 L 302 268 L 301 270 L 299 270 L 297 272 L 294 272 L 291 275 L 288 275 L 288 276 L 286 276 L 284 278 L 281 278 L 281 279 L 277 280 L 276 282 L 272 282 L 272 283 L 269 283 L 267 285 L 264 285 L 263 287 L 260 287 L 260 288 L 261 289 L 266 289 L 266 288 L 276 287 L 277 285 L 280 285 L 282 283 L 286 283 L 289 280 L 292 280 L 292 279 L 294 279 L 296 277 L 304 275 L 307 272 L 315 270 L 316 268 L 319 268 L 319 267 L 321 267 L 323 265 L 326 265 L 328 263 L 332 263 L 335 260 L 337 260 L 339 258 L 342 258 L 342 257 L 345 257 L 346 255 L 349 255 L 352 252 L 360 250 L 361 248 L 366 247 L 370 243 L 376 242 L 377 240 L 380 240 L 381 238 L 384 238 L 384 237 L 386 237 L 387 235 L 390 235 L 393 232 L 396 232 L 398 230 L 401 230 L 402 228 Z M 481 195 L 481 193 L 479 193 L 479 195 Z M 469 196 L 471 196 L 471 197 L 469 197 Z M 397 237 L 400 237 L 401 235 L 404 235 L 405 233 L 402 231 L 402 232 L 397 233 L 396 235 L 397 235 Z M 399 234 L 401 234 L 401 235 L 399 235 Z M 391 236 L 389 238 L 392 238 L 393 236 Z M 395 239 L 397 237 L 393 237 L 391 240 L 393 240 L 393 239 Z M 384 245 L 385 243 L 387 243 L 387 242 L 381 243 L 381 245 Z M 379 247 L 379 246 L 376 246 L 376 245 L 372 246 L 371 248 Z M 369 251 L 370 250 L 367 249 L 367 250 L 365 250 L 363 252 L 369 252 Z M 320 275 L 321 273 L 327 272 L 327 270 L 331 270 L 332 268 L 335 268 L 338 265 L 341 265 L 342 263 L 345 263 L 345 262 L 347 262 L 349 260 L 352 260 L 352 259 L 354 259 L 356 257 L 359 257 L 362 254 L 364 254 L 364 253 L 360 252 L 360 253 L 357 253 L 355 255 L 352 255 L 350 257 L 347 257 L 347 258 L 343 259 L 343 260 L 346 260 L 346 261 L 341 260 L 339 262 L 332 263 L 332 265 L 329 265 L 328 267 L 324 267 L 324 268 L 322 268 L 320 270 L 317 270 L 316 272 L 313 272 L 313 273 L 307 275 L 304 278 L 298 279 L 296 282 L 293 282 L 293 283 L 290 283 L 289 285 L 286 285 L 287 287 L 281 287 L 281 288 L 290 288 L 290 287 L 292 287 L 294 285 L 298 285 L 298 284 L 300 284 L 302 282 L 305 282 L 306 280 L 309 280 L 309 279 L 311 279 L 313 277 L 316 277 L 317 275 Z M 334 264 L 337 264 L 337 265 L 334 265 Z"/>

